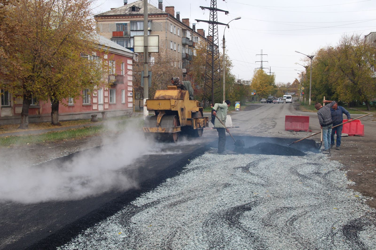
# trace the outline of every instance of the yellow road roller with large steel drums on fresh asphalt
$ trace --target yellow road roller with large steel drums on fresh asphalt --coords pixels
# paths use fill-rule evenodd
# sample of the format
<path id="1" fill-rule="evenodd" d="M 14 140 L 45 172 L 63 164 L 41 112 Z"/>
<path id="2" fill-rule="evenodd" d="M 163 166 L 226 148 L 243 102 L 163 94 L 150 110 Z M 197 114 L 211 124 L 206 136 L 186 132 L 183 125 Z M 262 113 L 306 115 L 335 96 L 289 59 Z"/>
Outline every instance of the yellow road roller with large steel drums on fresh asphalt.
<path id="1" fill-rule="evenodd" d="M 143 130 L 147 137 L 176 142 L 179 133 L 199 137 L 203 128 L 209 126 L 200 102 L 190 100 L 188 91 L 176 86 L 157 90 L 153 99 L 146 100 L 146 108 L 155 112 L 145 120 Z"/>

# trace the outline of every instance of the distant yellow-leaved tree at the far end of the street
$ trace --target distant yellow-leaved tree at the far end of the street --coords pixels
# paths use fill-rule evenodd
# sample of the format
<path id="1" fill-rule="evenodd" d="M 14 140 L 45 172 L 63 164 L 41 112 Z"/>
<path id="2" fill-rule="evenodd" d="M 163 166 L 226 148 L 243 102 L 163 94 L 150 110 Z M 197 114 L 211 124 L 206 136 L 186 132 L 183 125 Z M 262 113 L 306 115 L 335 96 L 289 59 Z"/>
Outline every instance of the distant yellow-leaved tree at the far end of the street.
<path id="1" fill-rule="evenodd" d="M 266 98 L 268 95 L 276 94 L 275 75 L 267 75 L 263 69 L 255 69 L 251 81 L 252 90 L 256 90 L 256 93 L 260 98 Z"/>

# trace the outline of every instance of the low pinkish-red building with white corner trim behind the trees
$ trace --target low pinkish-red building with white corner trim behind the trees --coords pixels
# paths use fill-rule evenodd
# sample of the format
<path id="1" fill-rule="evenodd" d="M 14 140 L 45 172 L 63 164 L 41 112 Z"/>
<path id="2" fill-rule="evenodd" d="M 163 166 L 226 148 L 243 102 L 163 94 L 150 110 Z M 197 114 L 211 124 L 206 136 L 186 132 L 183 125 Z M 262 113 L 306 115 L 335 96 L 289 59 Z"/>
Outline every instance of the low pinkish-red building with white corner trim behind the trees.
<path id="1" fill-rule="evenodd" d="M 99 51 L 91 55 L 81 53 L 83 59 L 107 60 L 109 73 L 103 78 L 109 87 L 97 86 L 94 90 L 82 90 L 82 97 L 64 100 L 59 105 L 59 118 L 63 120 L 88 119 L 92 114 L 106 111 L 107 115 L 124 115 L 133 110 L 132 60 L 133 52 L 96 34 Z M 107 84 L 106 84 L 107 85 Z M 19 123 L 23 97 L 1 90 L 0 124 Z M 91 93 L 91 94 L 90 94 Z M 65 103 L 65 105 L 63 104 Z M 32 99 L 29 122 L 51 121 L 51 102 Z"/>

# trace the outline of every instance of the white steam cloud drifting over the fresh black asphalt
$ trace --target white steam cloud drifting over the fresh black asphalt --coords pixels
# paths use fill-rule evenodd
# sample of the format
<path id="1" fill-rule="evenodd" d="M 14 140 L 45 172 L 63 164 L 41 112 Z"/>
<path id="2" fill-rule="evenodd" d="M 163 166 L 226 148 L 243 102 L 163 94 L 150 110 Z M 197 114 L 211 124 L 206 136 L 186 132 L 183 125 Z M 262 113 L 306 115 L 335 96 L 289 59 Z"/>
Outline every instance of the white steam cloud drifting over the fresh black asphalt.
<path id="1" fill-rule="evenodd" d="M 37 203 L 76 200 L 137 184 L 124 169 L 143 154 L 156 153 L 155 143 L 128 127 L 115 141 L 83 151 L 64 163 L 0 168 L 0 201 Z M 166 153 L 166 152 L 164 152 Z M 179 152 L 175 152 L 179 153 Z"/>

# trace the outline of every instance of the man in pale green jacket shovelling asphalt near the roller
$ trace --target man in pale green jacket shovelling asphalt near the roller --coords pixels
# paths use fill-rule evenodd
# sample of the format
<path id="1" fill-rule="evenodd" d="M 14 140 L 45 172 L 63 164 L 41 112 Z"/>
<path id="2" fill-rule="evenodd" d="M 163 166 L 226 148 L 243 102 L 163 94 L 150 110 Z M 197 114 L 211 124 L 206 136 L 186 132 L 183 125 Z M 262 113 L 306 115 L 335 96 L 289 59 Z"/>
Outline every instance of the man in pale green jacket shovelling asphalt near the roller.
<path id="1" fill-rule="evenodd" d="M 230 106 L 230 101 L 225 100 L 224 103 L 215 103 L 213 107 L 213 115 L 217 115 L 218 119 L 220 119 L 223 124 L 226 124 L 226 117 L 227 117 L 227 109 Z M 217 118 L 214 121 L 214 127 L 217 129 L 218 132 L 218 153 L 224 153 L 224 146 L 226 145 L 226 132 L 229 132 L 229 129 L 225 129 L 225 127 L 221 124 L 221 122 Z"/>

